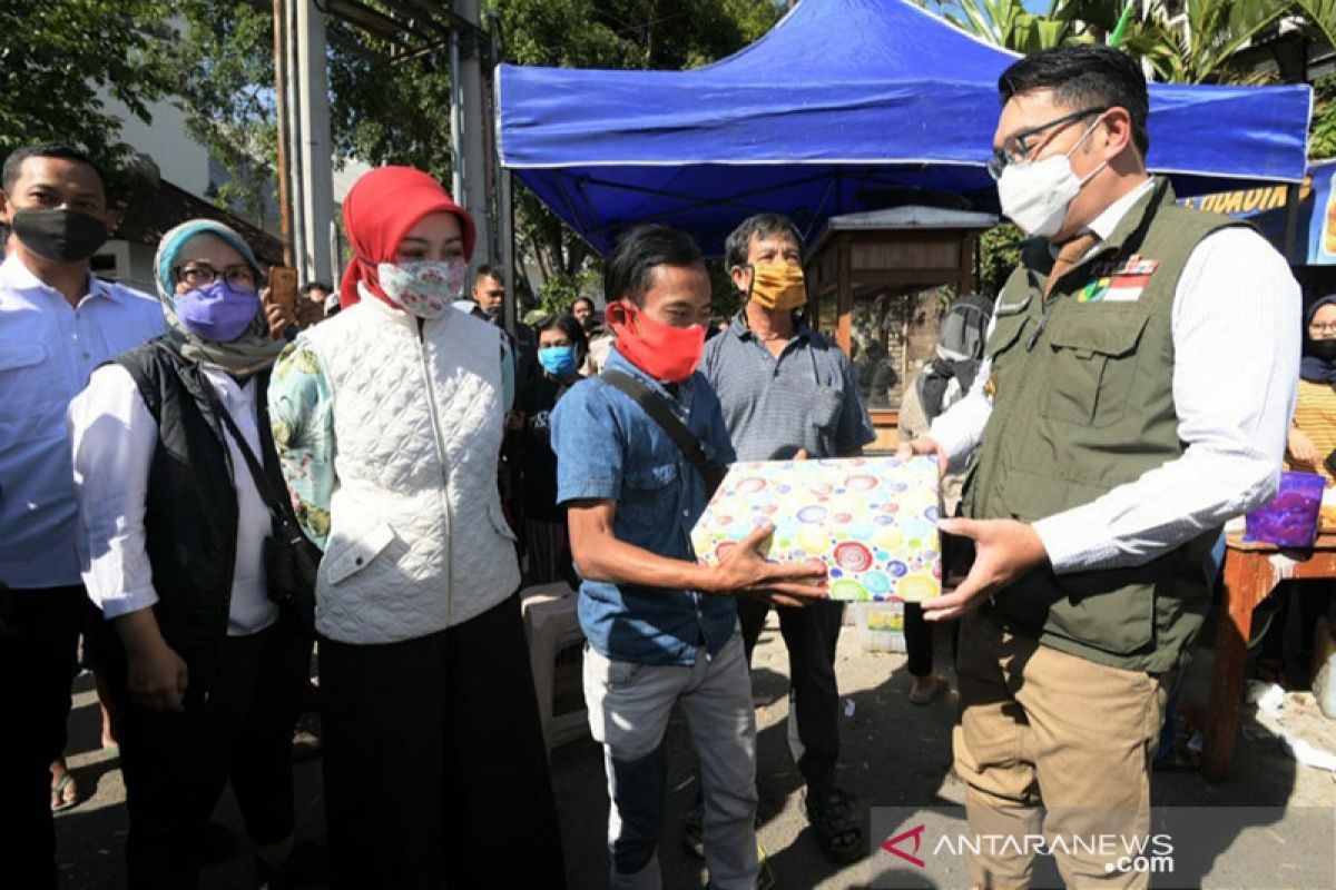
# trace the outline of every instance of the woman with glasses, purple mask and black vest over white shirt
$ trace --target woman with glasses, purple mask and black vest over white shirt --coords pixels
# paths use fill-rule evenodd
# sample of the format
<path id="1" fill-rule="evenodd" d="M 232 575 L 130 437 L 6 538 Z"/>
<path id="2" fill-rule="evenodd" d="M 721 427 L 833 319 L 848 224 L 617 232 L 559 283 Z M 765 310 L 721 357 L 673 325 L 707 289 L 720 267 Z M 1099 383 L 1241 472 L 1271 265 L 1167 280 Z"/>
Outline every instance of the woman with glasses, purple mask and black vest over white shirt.
<path id="1" fill-rule="evenodd" d="M 273 524 L 246 460 L 282 491 L 265 407 L 282 344 L 259 263 L 227 226 L 178 226 L 154 270 L 168 332 L 98 368 L 68 414 L 84 584 L 114 631 L 130 886 L 196 886 L 228 783 L 257 878 L 291 886 L 290 749 L 310 643 L 269 596 Z"/>

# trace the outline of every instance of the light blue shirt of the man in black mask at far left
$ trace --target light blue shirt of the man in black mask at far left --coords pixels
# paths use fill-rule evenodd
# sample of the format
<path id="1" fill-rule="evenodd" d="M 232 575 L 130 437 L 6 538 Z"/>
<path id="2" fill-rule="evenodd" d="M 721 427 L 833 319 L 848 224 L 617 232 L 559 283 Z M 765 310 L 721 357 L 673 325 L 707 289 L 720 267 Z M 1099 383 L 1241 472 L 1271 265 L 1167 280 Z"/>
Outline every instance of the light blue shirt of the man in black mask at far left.
<path id="1" fill-rule="evenodd" d="M 162 332 L 138 291 L 92 279 L 73 308 L 17 255 L 0 264 L 0 582 L 79 583 L 65 408 L 94 368 Z"/>

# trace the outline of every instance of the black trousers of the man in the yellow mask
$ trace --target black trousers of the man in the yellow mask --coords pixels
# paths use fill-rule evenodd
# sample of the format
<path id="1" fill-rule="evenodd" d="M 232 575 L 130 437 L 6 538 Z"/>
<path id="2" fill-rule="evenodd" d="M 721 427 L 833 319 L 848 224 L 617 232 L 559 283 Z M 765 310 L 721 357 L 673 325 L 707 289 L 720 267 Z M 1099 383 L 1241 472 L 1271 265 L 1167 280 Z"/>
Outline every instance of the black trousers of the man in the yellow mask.
<path id="1" fill-rule="evenodd" d="M 739 598 L 747 663 L 760 638 L 770 603 Z M 835 683 L 835 646 L 839 643 L 844 603 L 820 602 L 806 608 L 779 608 L 779 632 L 788 648 L 788 677 L 798 738 L 803 757 L 798 770 L 808 793 L 822 794 L 835 785 L 839 761 L 839 687 Z"/>

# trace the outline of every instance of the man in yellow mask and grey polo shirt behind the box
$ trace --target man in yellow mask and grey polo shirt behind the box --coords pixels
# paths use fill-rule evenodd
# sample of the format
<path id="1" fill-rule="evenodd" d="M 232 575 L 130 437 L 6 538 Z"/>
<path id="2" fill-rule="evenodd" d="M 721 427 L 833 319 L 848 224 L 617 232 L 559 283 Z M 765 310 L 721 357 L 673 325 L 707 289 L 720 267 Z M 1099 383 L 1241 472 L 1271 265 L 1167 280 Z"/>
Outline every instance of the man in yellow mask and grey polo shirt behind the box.
<path id="1" fill-rule="evenodd" d="M 725 243 L 728 274 L 745 304 L 705 344 L 701 371 L 719 394 L 739 460 L 855 456 L 876 438 L 848 356 L 796 316 L 807 304 L 802 248 L 798 227 L 779 213 L 744 220 Z M 737 603 L 748 662 L 768 611 L 763 600 Z M 838 602 L 779 608 L 790 659 L 790 738 L 807 783 L 807 817 L 822 853 L 840 863 L 864 854 L 854 798 L 835 786 L 842 622 Z M 691 835 L 688 821 L 688 842 Z"/>

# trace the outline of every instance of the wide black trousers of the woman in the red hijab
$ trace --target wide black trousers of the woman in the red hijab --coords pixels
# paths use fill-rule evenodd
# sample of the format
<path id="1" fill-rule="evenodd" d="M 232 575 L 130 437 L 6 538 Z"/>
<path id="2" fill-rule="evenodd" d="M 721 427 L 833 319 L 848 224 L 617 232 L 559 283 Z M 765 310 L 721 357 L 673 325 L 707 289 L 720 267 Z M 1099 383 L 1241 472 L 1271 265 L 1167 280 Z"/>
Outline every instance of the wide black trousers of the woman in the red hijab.
<path id="1" fill-rule="evenodd" d="M 339 887 L 565 886 L 520 596 L 385 644 L 321 638 Z"/>

